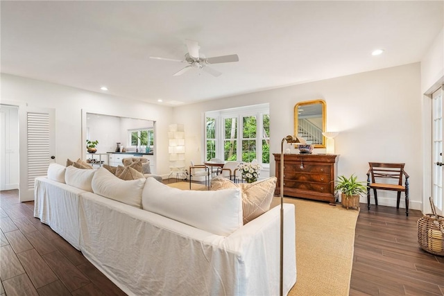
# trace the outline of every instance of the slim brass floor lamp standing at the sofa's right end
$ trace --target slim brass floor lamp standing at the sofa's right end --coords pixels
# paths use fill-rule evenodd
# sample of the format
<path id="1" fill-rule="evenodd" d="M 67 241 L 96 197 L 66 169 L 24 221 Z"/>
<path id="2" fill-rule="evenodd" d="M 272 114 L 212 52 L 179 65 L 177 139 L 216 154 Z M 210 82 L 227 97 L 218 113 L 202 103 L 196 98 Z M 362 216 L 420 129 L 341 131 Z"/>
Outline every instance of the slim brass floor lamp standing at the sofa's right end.
<path id="1" fill-rule="evenodd" d="M 284 293 L 284 142 L 305 143 L 304 139 L 290 136 L 284 137 L 280 146 L 280 272 L 279 295 Z"/>

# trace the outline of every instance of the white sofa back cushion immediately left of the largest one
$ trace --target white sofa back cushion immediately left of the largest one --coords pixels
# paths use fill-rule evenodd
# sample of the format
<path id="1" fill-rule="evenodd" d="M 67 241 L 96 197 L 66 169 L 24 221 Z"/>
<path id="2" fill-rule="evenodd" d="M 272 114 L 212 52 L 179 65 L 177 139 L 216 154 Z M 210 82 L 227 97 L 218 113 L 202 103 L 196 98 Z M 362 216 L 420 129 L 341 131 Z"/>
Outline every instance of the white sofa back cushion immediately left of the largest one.
<path id="1" fill-rule="evenodd" d="M 106 168 L 99 168 L 92 178 L 92 190 L 105 198 L 141 208 L 145 180 L 145 178 L 121 180 L 112 175 Z"/>

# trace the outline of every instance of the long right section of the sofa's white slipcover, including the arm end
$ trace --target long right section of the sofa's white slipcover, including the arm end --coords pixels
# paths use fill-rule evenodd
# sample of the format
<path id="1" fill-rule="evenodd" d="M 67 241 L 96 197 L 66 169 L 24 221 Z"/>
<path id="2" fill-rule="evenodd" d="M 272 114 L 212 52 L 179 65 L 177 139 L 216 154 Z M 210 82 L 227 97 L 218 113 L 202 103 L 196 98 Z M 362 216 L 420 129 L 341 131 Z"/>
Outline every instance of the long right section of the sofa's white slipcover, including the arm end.
<path id="1" fill-rule="evenodd" d="M 80 208 L 81 251 L 128 295 L 279 294 L 278 207 L 228 237 L 93 193 Z M 293 204 L 284 213 L 287 294 L 296 282 Z"/>

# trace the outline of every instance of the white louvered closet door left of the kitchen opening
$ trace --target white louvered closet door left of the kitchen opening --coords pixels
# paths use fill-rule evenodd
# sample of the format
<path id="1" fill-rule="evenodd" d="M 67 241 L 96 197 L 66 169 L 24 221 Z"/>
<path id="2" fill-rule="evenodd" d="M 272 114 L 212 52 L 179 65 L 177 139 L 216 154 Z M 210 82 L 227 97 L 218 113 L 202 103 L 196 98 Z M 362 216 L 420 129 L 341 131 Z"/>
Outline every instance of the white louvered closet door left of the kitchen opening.
<path id="1" fill-rule="evenodd" d="M 45 176 L 56 160 L 55 114 L 54 109 L 19 108 L 21 202 L 34 200 L 35 177 Z"/>

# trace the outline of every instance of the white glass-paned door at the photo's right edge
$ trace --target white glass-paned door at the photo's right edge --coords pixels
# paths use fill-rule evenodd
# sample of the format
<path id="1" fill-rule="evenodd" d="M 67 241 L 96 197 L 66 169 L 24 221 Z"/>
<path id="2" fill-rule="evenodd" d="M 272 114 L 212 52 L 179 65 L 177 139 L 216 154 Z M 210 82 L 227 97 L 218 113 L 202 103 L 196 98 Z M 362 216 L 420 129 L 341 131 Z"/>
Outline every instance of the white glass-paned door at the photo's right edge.
<path id="1" fill-rule="evenodd" d="M 436 212 L 443 215 L 443 87 L 432 94 L 432 198 Z"/>

